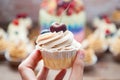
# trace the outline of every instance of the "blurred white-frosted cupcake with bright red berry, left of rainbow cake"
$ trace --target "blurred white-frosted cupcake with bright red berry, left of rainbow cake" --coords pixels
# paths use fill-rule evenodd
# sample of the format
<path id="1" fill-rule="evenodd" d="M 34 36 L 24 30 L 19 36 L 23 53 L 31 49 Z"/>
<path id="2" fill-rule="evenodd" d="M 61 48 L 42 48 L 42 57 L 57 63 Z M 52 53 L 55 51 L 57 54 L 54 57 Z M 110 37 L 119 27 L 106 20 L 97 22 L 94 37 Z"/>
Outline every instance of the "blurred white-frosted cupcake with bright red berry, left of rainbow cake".
<path id="1" fill-rule="evenodd" d="M 8 25 L 8 38 L 10 41 L 22 40 L 29 42 L 28 32 L 25 26 L 19 21 L 19 19 L 12 20 Z"/>

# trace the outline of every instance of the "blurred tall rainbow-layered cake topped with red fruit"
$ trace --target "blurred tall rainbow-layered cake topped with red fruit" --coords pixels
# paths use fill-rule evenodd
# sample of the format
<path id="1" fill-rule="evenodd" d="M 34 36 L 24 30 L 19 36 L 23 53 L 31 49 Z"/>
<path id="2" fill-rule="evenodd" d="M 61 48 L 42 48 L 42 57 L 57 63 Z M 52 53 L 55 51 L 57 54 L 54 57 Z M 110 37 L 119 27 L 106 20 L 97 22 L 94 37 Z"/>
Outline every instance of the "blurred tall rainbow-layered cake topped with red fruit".
<path id="1" fill-rule="evenodd" d="M 83 40 L 86 15 L 82 0 L 43 0 L 39 20 L 42 30 L 49 29 L 53 22 L 61 21 L 73 32 L 76 40 Z"/>

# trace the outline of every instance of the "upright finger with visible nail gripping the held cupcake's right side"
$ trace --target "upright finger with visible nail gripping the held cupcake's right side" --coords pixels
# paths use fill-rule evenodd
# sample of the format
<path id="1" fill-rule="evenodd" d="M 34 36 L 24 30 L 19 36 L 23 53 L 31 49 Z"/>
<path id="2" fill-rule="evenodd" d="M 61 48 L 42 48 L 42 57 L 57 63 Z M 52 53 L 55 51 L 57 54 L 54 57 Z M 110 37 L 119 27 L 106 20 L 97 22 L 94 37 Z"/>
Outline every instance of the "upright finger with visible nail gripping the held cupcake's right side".
<path id="1" fill-rule="evenodd" d="M 82 80 L 84 69 L 84 51 L 78 51 L 76 59 L 73 63 L 72 71 L 69 80 Z"/>

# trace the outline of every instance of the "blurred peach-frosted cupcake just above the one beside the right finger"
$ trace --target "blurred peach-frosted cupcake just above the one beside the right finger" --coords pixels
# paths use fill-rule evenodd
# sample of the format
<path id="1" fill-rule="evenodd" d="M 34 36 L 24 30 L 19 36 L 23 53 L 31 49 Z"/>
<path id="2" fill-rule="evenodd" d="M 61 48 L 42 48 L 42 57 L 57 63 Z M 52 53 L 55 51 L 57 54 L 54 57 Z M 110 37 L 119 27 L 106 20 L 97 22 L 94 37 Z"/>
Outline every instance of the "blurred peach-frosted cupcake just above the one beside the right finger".
<path id="1" fill-rule="evenodd" d="M 86 48 L 93 49 L 98 59 L 102 58 L 105 51 L 108 49 L 105 34 L 103 34 L 100 29 L 90 34 L 87 39 L 82 42 L 82 45 Z"/>

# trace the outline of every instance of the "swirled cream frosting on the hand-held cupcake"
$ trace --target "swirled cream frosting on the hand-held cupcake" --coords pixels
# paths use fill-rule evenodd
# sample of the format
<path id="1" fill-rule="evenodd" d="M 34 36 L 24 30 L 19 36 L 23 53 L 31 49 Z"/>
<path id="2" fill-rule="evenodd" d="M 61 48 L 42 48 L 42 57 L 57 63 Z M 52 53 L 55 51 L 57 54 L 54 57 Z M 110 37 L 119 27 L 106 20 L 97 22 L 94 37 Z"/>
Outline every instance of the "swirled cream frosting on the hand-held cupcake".
<path id="1" fill-rule="evenodd" d="M 47 50 L 71 50 L 80 49 L 81 45 L 76 40 L 72 32 L 66 30 L 65 32 L 49 32 L 38 36 L 36 41 L 40 49 Z"/>

